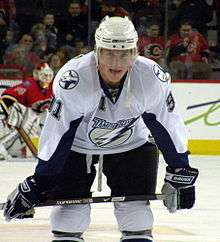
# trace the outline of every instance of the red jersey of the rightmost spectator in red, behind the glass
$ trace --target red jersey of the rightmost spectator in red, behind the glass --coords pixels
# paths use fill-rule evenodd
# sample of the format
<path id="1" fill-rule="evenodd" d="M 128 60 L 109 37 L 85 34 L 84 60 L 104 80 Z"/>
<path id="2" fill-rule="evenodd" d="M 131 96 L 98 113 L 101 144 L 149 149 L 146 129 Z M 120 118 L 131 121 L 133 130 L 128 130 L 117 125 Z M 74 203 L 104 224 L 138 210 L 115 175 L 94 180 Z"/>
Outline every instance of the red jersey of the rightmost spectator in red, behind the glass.
<path id="1" fill-rule="evenodd" d="M 178 60 L 186 62 L 191 60 L 192 62 L 202 61 L 202 52 L 208 50 L 208 43 L 206 39 L 198 32 L 192 32 L 189 37 L 182 38 L 179 34 L 172 35 L 167 42 L 167 48 L 171 49 L 175 46 L 186 47 L 187 52 L 182 53 L 172 58 L 172 61 Z"/>

